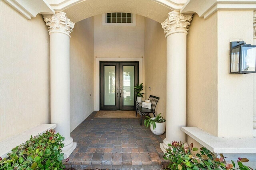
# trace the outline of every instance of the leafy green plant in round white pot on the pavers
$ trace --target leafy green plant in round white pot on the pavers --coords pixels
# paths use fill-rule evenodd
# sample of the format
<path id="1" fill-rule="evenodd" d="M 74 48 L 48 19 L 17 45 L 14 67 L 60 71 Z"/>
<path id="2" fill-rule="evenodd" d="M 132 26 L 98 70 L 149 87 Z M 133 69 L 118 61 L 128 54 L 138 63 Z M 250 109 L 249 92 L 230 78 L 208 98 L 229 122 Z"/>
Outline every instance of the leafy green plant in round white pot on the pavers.
<path id="1" fill-rule="evenodd" d="M 144 125 L 146 127 L 150 127 L 150 130 L 155 135 L 162 135 L 165 131 L 166 127 L 166 119 L 164 119 L 162 116 L 157 115 L 156 117 L 149 117 L 146 116 L 146 119 L 144 120 Z"/>

